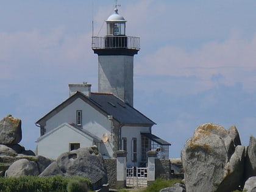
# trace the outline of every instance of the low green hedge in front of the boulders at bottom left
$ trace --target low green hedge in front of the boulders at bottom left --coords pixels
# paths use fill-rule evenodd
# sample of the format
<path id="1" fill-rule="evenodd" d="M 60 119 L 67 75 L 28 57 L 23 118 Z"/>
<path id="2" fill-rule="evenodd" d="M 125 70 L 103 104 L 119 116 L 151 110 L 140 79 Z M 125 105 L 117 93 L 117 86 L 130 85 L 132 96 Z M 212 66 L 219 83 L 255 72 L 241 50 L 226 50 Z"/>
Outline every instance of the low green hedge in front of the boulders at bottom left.
<path id="1" fill-rule="evenodd" d="M 74 180 L 79 180 L 81 185 L 86 182 L 90 186 L 84 177 L 0 177 L 0 192 L 69 192 L 68 184 L 74 183 Z"/>

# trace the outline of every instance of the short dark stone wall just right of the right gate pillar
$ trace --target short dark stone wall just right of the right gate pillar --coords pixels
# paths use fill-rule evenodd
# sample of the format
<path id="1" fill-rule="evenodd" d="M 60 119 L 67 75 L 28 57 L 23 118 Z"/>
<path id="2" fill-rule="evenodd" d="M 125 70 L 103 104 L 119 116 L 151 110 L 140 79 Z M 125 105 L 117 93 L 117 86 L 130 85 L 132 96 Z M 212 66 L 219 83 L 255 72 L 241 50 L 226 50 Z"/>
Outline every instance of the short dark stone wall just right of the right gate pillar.
<path id="1" fill-rule="evenodd" d="M 155 178 L 171 179 L 171 162 L 169 159 L 155 159 Z"/>

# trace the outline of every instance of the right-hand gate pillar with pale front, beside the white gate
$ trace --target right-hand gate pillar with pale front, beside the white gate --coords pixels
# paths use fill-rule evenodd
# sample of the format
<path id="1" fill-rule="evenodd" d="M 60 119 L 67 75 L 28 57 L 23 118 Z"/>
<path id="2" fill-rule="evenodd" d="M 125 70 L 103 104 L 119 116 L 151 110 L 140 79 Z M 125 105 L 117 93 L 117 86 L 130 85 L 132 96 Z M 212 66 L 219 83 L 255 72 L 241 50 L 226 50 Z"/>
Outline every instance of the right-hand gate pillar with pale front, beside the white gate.
<path id="1" fill-rule="evenodd" d="M 148 151 L 148 185 L 155 180 L 155 158 L 157 158 L 157 152 Z"/>

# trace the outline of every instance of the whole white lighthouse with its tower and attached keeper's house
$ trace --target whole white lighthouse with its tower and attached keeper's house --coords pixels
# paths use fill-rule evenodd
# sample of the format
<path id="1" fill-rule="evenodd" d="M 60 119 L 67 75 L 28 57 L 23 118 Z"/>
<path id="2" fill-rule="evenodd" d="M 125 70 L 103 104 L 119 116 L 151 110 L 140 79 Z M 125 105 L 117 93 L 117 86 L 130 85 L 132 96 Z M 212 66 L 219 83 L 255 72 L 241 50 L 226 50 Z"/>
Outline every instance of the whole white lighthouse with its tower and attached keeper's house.
<path id="1" fill-rule="evenodd" d="M 133 57 L 140 38 L 126 35 L 118 10 L 108 17 L 107 35 L 93 37 L 98 54 L 98 93 L 91 84 L 69 84 L 69 98 L 36 122 L 37 154 L 57 158 L 62 152 L 96 145 L 104 158 L 127 151 L 127 166 L 146 166 L 147 152 L 169 158 L 165 140 L 152 135 L 154 121 L 133 107 Z"/>

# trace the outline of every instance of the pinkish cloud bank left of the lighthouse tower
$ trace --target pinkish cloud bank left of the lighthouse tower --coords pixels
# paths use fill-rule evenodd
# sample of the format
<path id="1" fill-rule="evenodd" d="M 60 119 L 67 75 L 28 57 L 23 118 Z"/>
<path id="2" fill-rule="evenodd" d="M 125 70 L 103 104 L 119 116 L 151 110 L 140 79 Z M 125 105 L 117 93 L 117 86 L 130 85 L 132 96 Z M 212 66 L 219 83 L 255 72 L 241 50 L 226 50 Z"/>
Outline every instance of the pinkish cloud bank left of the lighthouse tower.
<path id="1" fill-rule="evenodd" d="M 91 68 L 94 59 L 90 34 L 67 35 L 62 26 L 48 34 L 38 30 L 2 32 L 0 42 L 0 79 L 5 80 L 61 76 L 79 67 Z"/>

